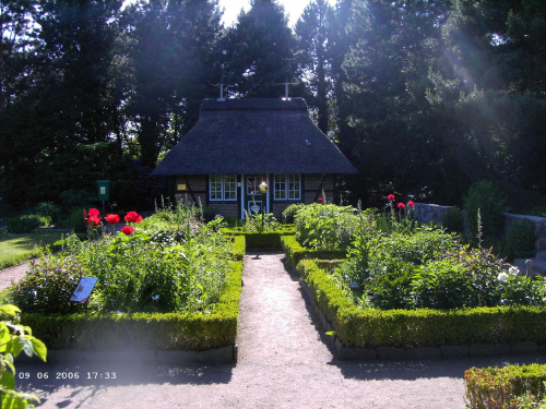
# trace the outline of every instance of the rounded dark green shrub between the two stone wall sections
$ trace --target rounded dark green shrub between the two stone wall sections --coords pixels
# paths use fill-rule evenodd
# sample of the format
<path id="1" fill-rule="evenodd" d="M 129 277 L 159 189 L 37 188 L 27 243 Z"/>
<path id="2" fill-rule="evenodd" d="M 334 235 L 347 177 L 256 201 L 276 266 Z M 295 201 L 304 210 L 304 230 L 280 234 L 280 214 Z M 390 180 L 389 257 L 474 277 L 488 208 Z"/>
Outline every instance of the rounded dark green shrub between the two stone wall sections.
<path id="1" fill-rule="evenodd" d="M 464 197 L 466 228 L 474 243 L 478 236 L 478 209 L 486 241 L 498 237 L 505 227 L 506 199 L 496 183 L 488 180 L 475 182 Z"/>

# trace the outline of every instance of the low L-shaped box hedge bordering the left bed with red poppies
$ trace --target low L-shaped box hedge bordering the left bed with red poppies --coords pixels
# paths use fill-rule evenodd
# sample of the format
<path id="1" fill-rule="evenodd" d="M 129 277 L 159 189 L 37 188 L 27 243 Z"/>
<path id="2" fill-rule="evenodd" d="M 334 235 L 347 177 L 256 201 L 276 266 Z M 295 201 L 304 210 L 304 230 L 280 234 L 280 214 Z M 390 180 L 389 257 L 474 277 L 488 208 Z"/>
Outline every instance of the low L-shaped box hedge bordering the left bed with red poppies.
<path id="1" fill-rule="evenodd" d="M 22 314 L 21 322 L 48 349 L 192 350 L 235 345 L 242 263 L 234 262 L 224 293 L 211 314 Z"/>

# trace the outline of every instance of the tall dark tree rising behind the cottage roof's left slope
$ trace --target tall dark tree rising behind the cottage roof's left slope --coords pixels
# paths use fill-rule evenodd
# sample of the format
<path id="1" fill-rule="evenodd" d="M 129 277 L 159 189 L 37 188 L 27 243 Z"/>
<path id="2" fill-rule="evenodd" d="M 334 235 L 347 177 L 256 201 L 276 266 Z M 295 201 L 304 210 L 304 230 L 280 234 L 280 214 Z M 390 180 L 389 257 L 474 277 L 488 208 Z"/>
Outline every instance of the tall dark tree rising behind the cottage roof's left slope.
<path id="1" fill-rule="evenodd" d="M 219 35 L 217 1 L 141 2 L 128 11 L 133 92 L 128 112 L 136 125 L 139 156 L 154 167 L 159 153 L 197 121 L 217 79 L 211 59 Z M 216 79 L 215 79 L 216 77 Z"/>

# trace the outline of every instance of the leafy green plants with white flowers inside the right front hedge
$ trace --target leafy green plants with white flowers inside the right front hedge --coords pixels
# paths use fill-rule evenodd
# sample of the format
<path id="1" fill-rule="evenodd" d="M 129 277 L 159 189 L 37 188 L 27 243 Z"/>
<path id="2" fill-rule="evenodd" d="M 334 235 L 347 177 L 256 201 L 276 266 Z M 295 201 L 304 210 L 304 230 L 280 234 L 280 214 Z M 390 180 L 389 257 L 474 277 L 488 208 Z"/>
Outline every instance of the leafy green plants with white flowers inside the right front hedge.
<path id="1" fill-rule="evenodd" d="M 365 308 L 456 309 L 544 305 L 542 280 L 507 270 L 486 249 L 471 249 L 441 229 L 357 236 L 348 260 L 335 272 Z"/>

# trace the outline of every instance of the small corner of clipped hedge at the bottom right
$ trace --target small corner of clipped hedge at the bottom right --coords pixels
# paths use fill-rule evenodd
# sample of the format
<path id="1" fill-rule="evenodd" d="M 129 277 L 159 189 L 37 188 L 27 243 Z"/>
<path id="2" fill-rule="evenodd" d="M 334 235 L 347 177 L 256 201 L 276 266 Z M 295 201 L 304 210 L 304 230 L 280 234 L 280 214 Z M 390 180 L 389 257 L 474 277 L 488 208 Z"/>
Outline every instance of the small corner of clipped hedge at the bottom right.
<path id="1" fill-rule="evenodd" d="M 522 407 L 518 406 L 518 397 L 523 396 L 537 402 L 545 396 L 545 382 L 546 365 L 537 363 L 521 366 L 472 368 L 464 373 L 466 399 L 470 407 L 478 409 Z"/>

